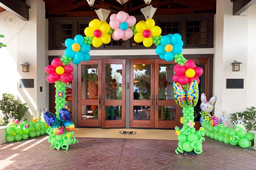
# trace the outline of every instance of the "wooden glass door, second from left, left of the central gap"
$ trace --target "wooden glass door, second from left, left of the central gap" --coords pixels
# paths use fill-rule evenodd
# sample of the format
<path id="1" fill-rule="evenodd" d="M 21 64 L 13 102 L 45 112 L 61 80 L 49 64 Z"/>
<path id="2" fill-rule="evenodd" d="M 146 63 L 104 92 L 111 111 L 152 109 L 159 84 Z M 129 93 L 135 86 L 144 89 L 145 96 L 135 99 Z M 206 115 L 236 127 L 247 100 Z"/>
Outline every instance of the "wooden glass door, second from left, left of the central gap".
<path id="1" fill-rule="evenodd" d="M 125 60 L 102 60 L 102 127 L 125 127 Z"/>

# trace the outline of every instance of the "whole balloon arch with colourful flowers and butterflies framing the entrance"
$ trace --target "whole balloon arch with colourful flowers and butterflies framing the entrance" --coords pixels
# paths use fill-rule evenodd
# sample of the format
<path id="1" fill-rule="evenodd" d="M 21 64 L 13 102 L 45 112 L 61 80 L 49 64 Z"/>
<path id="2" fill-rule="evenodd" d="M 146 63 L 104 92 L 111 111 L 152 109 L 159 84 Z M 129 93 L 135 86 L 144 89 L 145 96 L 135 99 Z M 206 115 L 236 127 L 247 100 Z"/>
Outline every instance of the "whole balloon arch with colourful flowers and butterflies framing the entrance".
<path id="1" fill-rule="evenodd" d="M 143 42 L 145 47 L 156 45 L 156 54 L 161 59 L 177 63 L 174 66 L 173 88 L 174 97 L 177 105 L 183 107 L 183 117 L 180 121 L 183 124 L 182 129 L 175 127 L 175 134 L 178 136 L 178 147 L 175 152 L 183 153 L 194 151 L 197 154 L 202 153 L 202 141 L 205 140 L 204 128 L 196 131 L 194 125 L 194 109 L 193 107 L 198 102 L 198 84 L 199 76 L 203 74 L 203 69 L 196 67 L 192 60 L 187 60 L 182 55 L 183 41 L 180 34 L 168 34 L 161 36 L 161 28 L 155 26 L 155 21 L 152 18 L 146 21 L 136 23 L 134 16 L 129 16 L 126 12 L 120 11 L 117 14 L 110 16 L 110 22 L 93 19 L 89 26 L 85 28 L 85 37 L 77 35 L 74 40 L 68 38 L 65 40 L 65 53 L 61 59 L 53 59 L 51 65 L 46 66 L 46 80 L 49 83 L 55 83 L 56 88 L 56 115 L 57 118 L 50 112 L 44 114 L 45 121 L 52 126 L 50 138 L 66 134 L 74 130 L 74 125 L 70 123 L 70 117 L 65 112 L 66 103 L 66 88 L 67 82 L 73 80 L 73 67 L 70 65 L 79 64 L 82 61 L 90 60 L 90 49 L 100 47 L 102 44 L 108 44 L 113 40 L 128 40 L 134 36 L 135 42 Z M 67 125 L 67 121 L 69 124 Z M 49 130 L 51 132 L 51 130 Z M 55 135 L 55 136 L 54 136 Z M 65 135 L 67 138 L 67 134 Z M 60 138 L 60 137 L 58 137 Z M 51 143 L 51 141 L 50 141 Z M 56 141 L 53 141 L 53 144 Z M 75 143 L 75 142 L 74 142 Z M 68 145 L 65 143 L 65 145 Z M 59 148 L 59 147 L 58 147 Z"/>

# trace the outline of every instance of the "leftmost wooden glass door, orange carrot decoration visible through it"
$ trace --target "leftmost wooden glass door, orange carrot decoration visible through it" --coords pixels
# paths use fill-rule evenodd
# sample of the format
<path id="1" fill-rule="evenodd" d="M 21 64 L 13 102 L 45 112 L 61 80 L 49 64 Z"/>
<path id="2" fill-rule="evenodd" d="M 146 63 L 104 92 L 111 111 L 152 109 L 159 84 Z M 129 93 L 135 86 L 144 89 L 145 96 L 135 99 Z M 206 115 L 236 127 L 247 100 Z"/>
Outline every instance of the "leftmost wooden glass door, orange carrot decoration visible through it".
<path id="1" fill-rule="evenodd" d="M 78 65 L 78 126 L 101 126 L 101 60 Z"/>

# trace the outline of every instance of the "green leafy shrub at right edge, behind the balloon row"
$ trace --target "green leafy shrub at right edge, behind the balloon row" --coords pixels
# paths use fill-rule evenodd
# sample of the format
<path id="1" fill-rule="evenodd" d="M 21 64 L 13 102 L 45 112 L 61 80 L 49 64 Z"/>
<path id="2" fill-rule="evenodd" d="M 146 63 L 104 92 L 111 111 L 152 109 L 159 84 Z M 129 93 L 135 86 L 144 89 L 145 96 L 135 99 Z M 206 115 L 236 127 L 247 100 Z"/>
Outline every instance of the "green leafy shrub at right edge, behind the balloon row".
<path id="1" fill-rule="evenodd" d="M 250 107 L 246 108 L 245 111 L 243 112 L 235 112 L 231 114 L 231 122 L 237 121 L 237 114 L 239 117 L 242 117 L 243 115 L 245 118 L 243 119 L 243 122 L 247 124 L 245 128 L 247 130 L 256 130 L 256 108 L 255 107 Z"/>

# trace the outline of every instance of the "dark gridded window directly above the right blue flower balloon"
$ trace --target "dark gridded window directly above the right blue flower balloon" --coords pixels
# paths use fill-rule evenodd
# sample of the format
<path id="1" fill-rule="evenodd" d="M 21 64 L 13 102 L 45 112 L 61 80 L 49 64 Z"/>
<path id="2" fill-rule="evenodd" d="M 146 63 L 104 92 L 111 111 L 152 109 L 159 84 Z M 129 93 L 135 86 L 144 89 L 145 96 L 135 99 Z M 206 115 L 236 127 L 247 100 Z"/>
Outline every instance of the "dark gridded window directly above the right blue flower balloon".
<path id="1" fill-rule="evenodd" d="M 162 30 L 161 35 L 179 33 L 179 22 L 178 21 L 160 21 L 159 27 Z"/>

